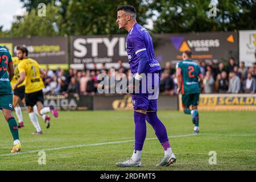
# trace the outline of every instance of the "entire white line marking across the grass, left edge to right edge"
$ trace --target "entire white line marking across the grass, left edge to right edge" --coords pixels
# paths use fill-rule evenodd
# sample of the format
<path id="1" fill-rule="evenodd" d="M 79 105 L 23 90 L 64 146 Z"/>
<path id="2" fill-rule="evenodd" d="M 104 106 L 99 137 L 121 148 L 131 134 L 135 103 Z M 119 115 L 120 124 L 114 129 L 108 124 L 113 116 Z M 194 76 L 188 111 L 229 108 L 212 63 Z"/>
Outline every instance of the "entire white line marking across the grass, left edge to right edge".
<path id="1" fill-rule="evenodd" d="M 209 135 L 209 136 L 223 136 L 223 137 L 254 137 L 256 134 L 210 134 L 210 133 L 203 133 L 203 134 L 185 134 L 185 135 L 172 135 L 168 136 L 168 138 L 179 138 L 179 137 L 190 137 L 195 135 Z M 156 140 L 158 138 L 146 138 L 145 140 Z M 30 150 L 26 152 L 18 152 L 14 154 L 2 154 L 0 156 L 10 156 L 10 155 L 18 155 L 18 154 L 29 154 L 29 153 L 36 153 L 39 151 L 54 151 L 54 150 L 63 150 L 68 148 L 77 148 L 77 147 L 88 147 L 88 146 L 102 146 L 105 144 L 116 144 L 116 143 L 129 143 L 134 142 L 134 139 L 132 140 L 123 140 L 123 141 L 115 141 L 115 142 L 103 142 L 103 143 L 92 143 L 92 144 L 79 144 L 76 146 L 68 146 L 68 147 L 57 147 L 57 148 L 46 148 L 46 149 L 40 149 L 40 150 Z"/>

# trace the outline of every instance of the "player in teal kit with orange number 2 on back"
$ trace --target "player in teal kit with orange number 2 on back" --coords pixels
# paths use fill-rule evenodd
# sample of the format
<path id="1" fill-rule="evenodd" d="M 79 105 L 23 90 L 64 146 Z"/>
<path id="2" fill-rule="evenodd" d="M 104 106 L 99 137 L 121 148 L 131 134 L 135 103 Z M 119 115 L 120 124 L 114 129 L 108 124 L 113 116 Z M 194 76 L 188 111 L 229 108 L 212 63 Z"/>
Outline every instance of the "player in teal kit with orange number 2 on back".
<path id="1" fill-rule="evenodd" d="M 192 52 L 185 51 L 182 54 L 183 61 L 176 64 L 177 94 L 182 94 L 182 105 L 185 114 L 192 114 L 192 122 L 195 124 L 194 133 L 199 133 L 199 104 L 200 85 L 203 83 L 203 75 L 198 64 L 192 62 Z M 199 79 L 200 78 L 200 79 Z M 189 107 L 192 105 L 192 110 Z"/>

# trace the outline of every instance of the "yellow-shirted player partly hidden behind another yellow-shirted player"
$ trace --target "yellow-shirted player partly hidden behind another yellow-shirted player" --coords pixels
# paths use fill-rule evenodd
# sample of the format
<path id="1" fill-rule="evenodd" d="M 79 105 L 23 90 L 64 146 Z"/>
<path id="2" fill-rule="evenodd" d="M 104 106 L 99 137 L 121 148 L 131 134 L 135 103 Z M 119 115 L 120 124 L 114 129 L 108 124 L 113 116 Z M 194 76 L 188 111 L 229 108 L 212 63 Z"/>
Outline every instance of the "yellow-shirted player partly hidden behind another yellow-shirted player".
<path id="1" fill-rule="evenodd" d="M 20 63 L 19 57 L 13 57 L 13 66 L 14 66 L 14 76 L 13 80 L 11 80 L 11 87 L 19 80 L 19 71 L 18 71 L 18 64 Z M 18 85 L 16 89 L 13 90 L 13 107 L 15 113 L 18 118 L 18 128 L 24 127 L 23 123 L 23 116 L 22 110 L 18 104 L 19 101 L 22 101 L 25 105 L 25 82 L 23 81 L 22 84 Z"/>

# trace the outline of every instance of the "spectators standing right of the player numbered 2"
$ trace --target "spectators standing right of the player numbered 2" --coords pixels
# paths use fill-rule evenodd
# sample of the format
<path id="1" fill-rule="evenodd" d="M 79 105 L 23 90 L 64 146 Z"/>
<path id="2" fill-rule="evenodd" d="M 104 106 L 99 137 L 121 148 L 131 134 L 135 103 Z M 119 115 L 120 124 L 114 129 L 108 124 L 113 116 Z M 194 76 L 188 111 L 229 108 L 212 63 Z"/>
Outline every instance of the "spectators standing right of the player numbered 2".
<path id="1" fill-rule="evenodd" d="M 203 73 L 203 93 L 255 93 L 256 91 L 256 63 L 246 68 L 241 61 L 237 65 L 234 58 L 229 59 L 227 67 L 223 63 L 214 64 L 209 61 L 199 61 Z"/>

